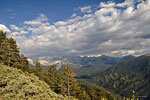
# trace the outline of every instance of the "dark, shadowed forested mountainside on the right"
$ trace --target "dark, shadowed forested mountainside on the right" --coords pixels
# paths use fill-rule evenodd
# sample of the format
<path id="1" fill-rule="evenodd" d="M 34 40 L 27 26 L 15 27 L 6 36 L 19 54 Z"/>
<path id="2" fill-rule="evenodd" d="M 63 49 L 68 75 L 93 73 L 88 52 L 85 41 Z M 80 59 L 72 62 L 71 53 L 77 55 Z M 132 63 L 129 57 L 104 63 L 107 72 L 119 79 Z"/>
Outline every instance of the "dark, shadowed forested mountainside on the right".
<path id="1" fill-rule="evenodd" d="M 130 96 L 133 90 L 138 96 L 147 96 L 150 92 L 149 82 L 144 78 L 147 73 L 150 73 L 150 55 L 143 55 L 112 66 L 95 75 L 92 82 L 121 96 Z"/>

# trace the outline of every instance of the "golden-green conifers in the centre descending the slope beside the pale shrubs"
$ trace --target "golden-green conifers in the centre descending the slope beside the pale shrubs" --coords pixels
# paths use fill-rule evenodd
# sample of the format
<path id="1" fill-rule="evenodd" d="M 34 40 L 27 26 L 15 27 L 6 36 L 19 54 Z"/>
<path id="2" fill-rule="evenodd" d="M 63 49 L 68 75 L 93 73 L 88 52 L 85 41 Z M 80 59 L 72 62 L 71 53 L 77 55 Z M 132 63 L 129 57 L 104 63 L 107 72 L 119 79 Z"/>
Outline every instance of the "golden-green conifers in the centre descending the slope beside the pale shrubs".
<path id="1" fill-rule="evenodd" d="M 72 68 L 69 68 L 69 66 L 64 67 L 63 72 L 58 75 L 56 66 L 52 65 L 48 71 L 44 71 L 40 63 L 37 62 L 34 68 L 34 74 L 38 77 L 40 76 L 40 80 L 49 84 L 51 89 L 56 93 L 60 93 L 64 96 L 73 96 L 79 100 L 100 100 L 103 97 L 113 100 L 114 95 L 101 88 L 93 87 L 87 82 L 80 82 L 82 84 L 79 84 L 74 78 Z"/>

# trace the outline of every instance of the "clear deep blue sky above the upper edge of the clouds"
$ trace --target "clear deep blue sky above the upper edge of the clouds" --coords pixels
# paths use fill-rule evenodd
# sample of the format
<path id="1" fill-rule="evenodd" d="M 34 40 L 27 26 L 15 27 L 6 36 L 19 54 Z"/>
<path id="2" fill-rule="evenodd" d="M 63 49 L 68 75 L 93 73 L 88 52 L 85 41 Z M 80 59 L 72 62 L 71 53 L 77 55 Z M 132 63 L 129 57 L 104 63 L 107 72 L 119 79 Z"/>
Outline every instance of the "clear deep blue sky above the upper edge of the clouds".
<path id="1" fill-rule="evenodd" d="M 45 14 L 50 23 L 67 20 L 73 13 L 81 14 L 79 8 L 98 6 L 109 0 L 1 0 L 0 23 L 21 25 L 25 20 L 32 20 L 39 13 Z M 123 2 L 123 0 L 114 0 Z"/>

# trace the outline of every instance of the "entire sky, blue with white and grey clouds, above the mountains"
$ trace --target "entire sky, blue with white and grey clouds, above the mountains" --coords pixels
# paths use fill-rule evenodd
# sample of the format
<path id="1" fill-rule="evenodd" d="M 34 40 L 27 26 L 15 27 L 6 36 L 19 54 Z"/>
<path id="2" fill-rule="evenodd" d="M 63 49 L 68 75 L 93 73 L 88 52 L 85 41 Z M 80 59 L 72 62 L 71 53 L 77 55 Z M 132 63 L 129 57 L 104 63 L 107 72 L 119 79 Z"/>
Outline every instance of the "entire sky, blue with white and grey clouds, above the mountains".
<path id="1" fill-rule="evenodd" d="M 0 30 L 22 54 L 126 56 L 150 51 L 149 0 L 1 0 Z"/>

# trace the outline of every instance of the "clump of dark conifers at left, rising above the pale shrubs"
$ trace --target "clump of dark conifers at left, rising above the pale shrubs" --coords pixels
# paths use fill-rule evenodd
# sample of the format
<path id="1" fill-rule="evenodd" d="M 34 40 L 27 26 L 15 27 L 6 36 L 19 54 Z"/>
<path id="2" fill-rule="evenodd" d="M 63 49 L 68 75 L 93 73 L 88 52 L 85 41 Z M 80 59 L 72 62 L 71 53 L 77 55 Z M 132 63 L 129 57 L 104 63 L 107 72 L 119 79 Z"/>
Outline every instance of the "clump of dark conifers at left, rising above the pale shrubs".
<path id="1" fill-rule="evenodd" d="M 23 71 L 28 71 L 29 69 L 28 60 L 19 54 L 16 41 L 13 38 L 7 38 L 6 33 L 2 31 L 0 31 L 0 63 Z"/>

